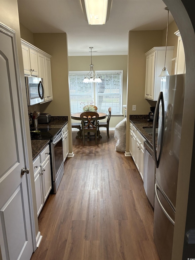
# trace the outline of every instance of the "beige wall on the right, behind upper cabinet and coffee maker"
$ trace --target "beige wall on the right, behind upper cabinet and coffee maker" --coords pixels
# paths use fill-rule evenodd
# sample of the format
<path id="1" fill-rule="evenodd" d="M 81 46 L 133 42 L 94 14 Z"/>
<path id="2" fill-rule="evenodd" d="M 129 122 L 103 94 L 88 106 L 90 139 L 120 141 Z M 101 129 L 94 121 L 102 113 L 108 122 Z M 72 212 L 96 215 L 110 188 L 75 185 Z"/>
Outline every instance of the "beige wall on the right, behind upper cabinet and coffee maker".
<path id="1" fill-rule="evenodd" d="M 168 27 L 168 46 L 175 46 L 173 58 L 177 53 L 177 36 L 174 34 L 178 28 L 175 21 Z M 127 118 L 129 115 L 148 114 L 150 106 L 156 105 L 155 101 L 144 98 L 146 56 L 145 53 L 153 47 L 165 46 L 166 28 L 153 31 L 129 31 L 128 50 L 128 87 L 127 87 Z M 136 105 L 136 111 L 132 111 Z M 126 151 L 129 152 L 129 120 L 126 128 Z"/>

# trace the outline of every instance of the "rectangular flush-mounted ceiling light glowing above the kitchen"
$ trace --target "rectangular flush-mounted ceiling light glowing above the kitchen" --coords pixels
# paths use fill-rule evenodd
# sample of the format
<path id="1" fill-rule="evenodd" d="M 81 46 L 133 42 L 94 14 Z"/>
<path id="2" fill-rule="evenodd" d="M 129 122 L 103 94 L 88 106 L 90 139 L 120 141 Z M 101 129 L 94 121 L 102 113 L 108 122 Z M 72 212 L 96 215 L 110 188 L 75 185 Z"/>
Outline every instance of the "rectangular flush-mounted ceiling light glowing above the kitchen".
<path id="1" fill-rule="evenodd" d="M 89 24 L 105 24 L 108 21 L 112 0 L 81 0 L 83 13 Z"/>

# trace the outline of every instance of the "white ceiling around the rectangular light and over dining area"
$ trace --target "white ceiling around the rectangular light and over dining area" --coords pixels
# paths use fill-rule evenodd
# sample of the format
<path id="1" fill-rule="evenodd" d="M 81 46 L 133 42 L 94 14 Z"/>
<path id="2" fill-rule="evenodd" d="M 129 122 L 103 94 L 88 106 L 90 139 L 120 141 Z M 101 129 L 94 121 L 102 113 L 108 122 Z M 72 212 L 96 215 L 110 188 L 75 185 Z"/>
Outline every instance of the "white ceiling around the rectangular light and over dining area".
<path id="1" fill-rule="evenodd" d="M 130 30 L 163 30 L 167 11 L 162 0 L 112 0 L 109 20 L 89 25 L 80 0 L 18 0 L 19 20 L 33 33 L 68 35 L 69 56 L 127 55 Z M 173 21 L 169 12 L 169 22 Z"/>

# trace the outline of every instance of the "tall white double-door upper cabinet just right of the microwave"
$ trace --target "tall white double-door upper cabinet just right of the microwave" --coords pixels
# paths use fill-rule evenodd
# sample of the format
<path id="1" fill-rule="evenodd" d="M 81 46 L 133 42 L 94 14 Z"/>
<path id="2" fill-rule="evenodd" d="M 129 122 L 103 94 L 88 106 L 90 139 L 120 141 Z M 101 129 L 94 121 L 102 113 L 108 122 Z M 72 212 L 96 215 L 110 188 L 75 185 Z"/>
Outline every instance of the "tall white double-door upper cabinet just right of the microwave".
<path id="1" fill-rule="evenodd" d="M 38 53 L 39 77 L 43 78 L 44 102 L 53 100 L 50 58 Z M 44 103 L 43 102 L 43 103 Z"/>

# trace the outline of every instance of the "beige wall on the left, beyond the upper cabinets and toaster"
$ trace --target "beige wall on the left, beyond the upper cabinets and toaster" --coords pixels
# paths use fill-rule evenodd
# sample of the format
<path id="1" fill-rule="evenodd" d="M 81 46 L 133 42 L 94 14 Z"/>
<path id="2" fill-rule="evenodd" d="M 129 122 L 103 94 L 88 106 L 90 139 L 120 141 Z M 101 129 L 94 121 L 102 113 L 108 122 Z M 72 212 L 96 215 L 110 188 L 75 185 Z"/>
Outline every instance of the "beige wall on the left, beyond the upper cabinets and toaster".
<path id="1" fill-rule="evenodd" d="M 70 101 L 68 84 L 68 53 L 66 33 L 33 34 L 34 45 L 51 57 L 51 80 L 53 100 L 40 104 L 41 113 L 52 116 L 68 116 L 70 119 Z M 71 120 L 68 122 L 71 129 Z M 72 153 L 72 135 L 69 135 L 69 153 Z"/>

